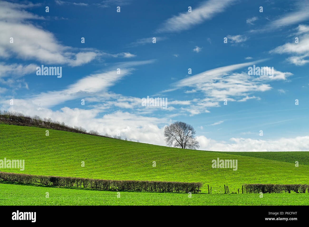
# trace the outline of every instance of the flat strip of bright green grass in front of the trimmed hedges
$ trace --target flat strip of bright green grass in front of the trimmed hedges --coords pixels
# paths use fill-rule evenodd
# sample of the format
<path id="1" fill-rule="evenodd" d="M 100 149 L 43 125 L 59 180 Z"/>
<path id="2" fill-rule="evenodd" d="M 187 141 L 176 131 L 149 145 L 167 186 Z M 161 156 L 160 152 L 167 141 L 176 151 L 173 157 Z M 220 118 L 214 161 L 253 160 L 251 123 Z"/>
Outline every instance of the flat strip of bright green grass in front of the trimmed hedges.
<path id="1" fill-rule="evenodd" d="M 0 205 L 308 205 L 309 196 L 120 192 L 117 198 L 116 193 L 0 183 Z"/>

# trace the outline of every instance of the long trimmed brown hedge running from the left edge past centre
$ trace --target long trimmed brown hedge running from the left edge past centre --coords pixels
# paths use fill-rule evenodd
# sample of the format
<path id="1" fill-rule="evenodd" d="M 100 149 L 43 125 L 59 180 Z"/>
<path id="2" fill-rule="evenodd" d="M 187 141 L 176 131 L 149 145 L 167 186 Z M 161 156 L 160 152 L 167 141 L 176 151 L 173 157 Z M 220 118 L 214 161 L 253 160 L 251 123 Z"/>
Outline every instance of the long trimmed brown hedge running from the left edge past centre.
<path id="1" fill-rule="evenodd" d="M 25 184 L 41 184 L 47 186 L 67 186 L 78 188 L 94 188 L 98 190 L 125 190 L 149 192 L 194 192 L 202 187 L 200 182 L 168 182 L 168 181 L 119 181 L 100 180 L 76 177 L 40 176 L 23 173 L 0 172 L 0 180 Z"/>

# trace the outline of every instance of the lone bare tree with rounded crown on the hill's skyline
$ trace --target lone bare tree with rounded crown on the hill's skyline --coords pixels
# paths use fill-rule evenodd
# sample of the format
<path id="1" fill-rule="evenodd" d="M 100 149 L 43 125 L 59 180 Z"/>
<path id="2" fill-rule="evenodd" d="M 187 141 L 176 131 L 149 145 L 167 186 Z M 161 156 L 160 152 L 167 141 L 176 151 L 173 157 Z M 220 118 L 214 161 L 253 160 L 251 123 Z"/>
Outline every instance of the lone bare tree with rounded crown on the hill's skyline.
<path id="1" fill-rule="evenodd" d="M 196 131 L 192 125 L 176 121 L 164 128 L 164 137 L 167 146 L 175 148 L 194 149 L 200 147 L 195 137 Z"/>

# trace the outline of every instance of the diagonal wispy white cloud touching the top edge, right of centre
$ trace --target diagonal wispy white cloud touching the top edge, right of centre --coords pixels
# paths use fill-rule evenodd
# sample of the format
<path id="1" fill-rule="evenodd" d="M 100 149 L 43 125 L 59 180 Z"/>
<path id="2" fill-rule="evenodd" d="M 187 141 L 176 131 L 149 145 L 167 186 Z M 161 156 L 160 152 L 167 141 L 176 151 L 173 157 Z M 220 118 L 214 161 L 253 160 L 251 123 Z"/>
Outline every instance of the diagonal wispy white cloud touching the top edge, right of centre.
<path id="1" fill-rule="evenodd" d="M 216 14 L 223 12 L 234 0 L 209 0 L 198 7 L 192 7 L 192 12 L 179 13 L 167 19 L 157 32 L 180 32 L 193 28 L 205 20 L 213 18 Z"/>

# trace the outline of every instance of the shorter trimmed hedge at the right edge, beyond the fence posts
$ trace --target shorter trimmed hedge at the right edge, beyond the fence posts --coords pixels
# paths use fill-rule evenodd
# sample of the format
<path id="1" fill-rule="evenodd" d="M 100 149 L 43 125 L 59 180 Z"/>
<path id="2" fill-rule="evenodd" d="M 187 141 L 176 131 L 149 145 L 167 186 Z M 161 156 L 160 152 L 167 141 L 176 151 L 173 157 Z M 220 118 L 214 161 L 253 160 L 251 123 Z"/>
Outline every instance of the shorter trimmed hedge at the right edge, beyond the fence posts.
<path id="1" fill-rule="evenodd" d="M 244 184 L 244 189 L 247 193 L 306 193 L 306 190 L 309 193 L 307 184 Z"/>

